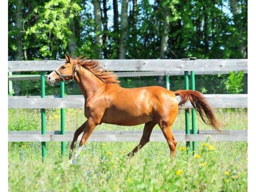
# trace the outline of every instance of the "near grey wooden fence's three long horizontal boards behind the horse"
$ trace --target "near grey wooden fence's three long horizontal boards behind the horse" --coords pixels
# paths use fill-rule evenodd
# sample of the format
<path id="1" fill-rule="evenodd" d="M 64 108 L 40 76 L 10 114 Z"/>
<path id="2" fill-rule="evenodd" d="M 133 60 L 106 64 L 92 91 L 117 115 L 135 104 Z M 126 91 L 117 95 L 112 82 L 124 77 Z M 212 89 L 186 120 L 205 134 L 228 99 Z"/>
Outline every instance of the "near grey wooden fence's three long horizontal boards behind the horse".
<path id="1" fill-rule="evenodd" d="M 52 71 L 63 60 L 54 61 L 9 61 L 8 72 L 14 71 Z M 119 76 L 132 75 L 180 75 L 184 71 L 196 71 L 196 74 L 226 74 L 227 72 L 247 72 L 247 59 L 238 60 L 100 60 L 106 70 L 118 71 Z M 120 71 L 134 71 L 122 72 Z M 125 74 L 126 73 L 126 74 Z M 21 78 L 21 77 L 19 77 Z M 12 77 L 9 80 L 14 80 Z M 20 79 L 22 80 L 22 79 Z M 247 94 L 215 94 L 205 95 L 213 108 L 247 108 Z M 179 97 L 177 97 L 179 100 Z M 82 96 L 12 96 L 8 98 L 8 108 L 84 108 Z M 188 102 L 186 108 L 191 108 Z M 185 123 L 184 123 L 185 126 Z M 40 132 L 12 131 L 8 132 L 9 142 L 18 141 L 71 141 L 74 132 L 67 131 L 65 135 L 60 131 L 49 131 L 46 134 Z M 95 131 L 89 141 L 136 141 L 141 138 L 142 130 L 131 131 Z M 183 130 L 174 130 L 178 141 L 247 141 L 247 130 L 223 130 L 218 133 L 214 130 L 198 130 L 196 134 L 185 134 Z M 162 132 L 154 130 L 151 141 L 165 141 Z"/>

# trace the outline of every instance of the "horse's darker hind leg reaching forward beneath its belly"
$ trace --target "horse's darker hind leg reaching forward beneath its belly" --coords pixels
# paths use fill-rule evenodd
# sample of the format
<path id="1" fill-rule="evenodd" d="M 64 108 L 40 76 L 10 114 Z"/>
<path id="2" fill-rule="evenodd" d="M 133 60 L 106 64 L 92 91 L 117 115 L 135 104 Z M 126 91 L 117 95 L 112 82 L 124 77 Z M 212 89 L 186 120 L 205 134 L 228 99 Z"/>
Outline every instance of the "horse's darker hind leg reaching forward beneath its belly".
<path id="1" fill-rule="evenodd" d="M 138 146 L 134 148 L 134 150 L 132 150 L 132 152 L 128 154 L 129 157 L 133 157 L 136 152 L 138 152 L 147 142 L 149 142 L 150 135 L 155 125 L 156 125 L 155 121 L 150 121 L 145 123 L 140 143 L 138 144 Z"/>

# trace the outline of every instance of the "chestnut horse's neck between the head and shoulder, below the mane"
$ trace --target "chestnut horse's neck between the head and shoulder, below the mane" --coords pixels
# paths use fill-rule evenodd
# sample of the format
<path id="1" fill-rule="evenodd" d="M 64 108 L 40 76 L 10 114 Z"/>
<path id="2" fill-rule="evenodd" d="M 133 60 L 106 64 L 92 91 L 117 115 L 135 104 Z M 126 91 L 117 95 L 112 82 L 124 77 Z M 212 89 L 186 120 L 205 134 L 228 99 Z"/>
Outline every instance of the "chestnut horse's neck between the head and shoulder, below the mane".
<path id="1" fill-rule="evenodd" d="M 75 76 L 75 80 L 80 87 L 85 101 L 93 97 L 97 92 L 102 90 L 106 85 L 99 80 L 94 74 L 86 69 L 80 68 Z"/>

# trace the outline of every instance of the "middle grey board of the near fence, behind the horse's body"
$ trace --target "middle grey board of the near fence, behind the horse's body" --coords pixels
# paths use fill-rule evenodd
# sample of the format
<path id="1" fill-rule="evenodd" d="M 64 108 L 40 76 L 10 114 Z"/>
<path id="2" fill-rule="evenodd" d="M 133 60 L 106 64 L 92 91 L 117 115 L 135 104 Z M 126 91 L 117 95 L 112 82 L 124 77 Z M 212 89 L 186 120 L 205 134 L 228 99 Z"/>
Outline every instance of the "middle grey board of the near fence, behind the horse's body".
<path id="1" fill-rule="evenodd" d="M 247 108 L 247 94 L 205 94 L 213 108 Z M 180 97 L 176 97 L 180 102 Z M 8 108 L 84 108 L 84 98 L 20 98 L 8 97 Z M 187 102 L 180 109 L 192 108 Z"/>

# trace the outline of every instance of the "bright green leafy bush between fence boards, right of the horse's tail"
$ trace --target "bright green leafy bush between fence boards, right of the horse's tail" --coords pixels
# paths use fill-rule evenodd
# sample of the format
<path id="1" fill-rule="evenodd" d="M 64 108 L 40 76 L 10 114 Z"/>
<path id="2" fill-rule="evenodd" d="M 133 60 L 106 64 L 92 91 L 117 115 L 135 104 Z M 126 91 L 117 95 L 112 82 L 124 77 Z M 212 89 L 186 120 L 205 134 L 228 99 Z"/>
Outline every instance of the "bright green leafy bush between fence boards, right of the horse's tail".
<path id="1" fill-rule="evenodd" d="M 228 90 L 229 94 L 238 94 L 243 91 L 243 78 L 244 73 L 242 71 L 239 71 L 237 74 L 234 71 L 230 72 L 228 80 L 225 82 L 226 89 Z"/>

